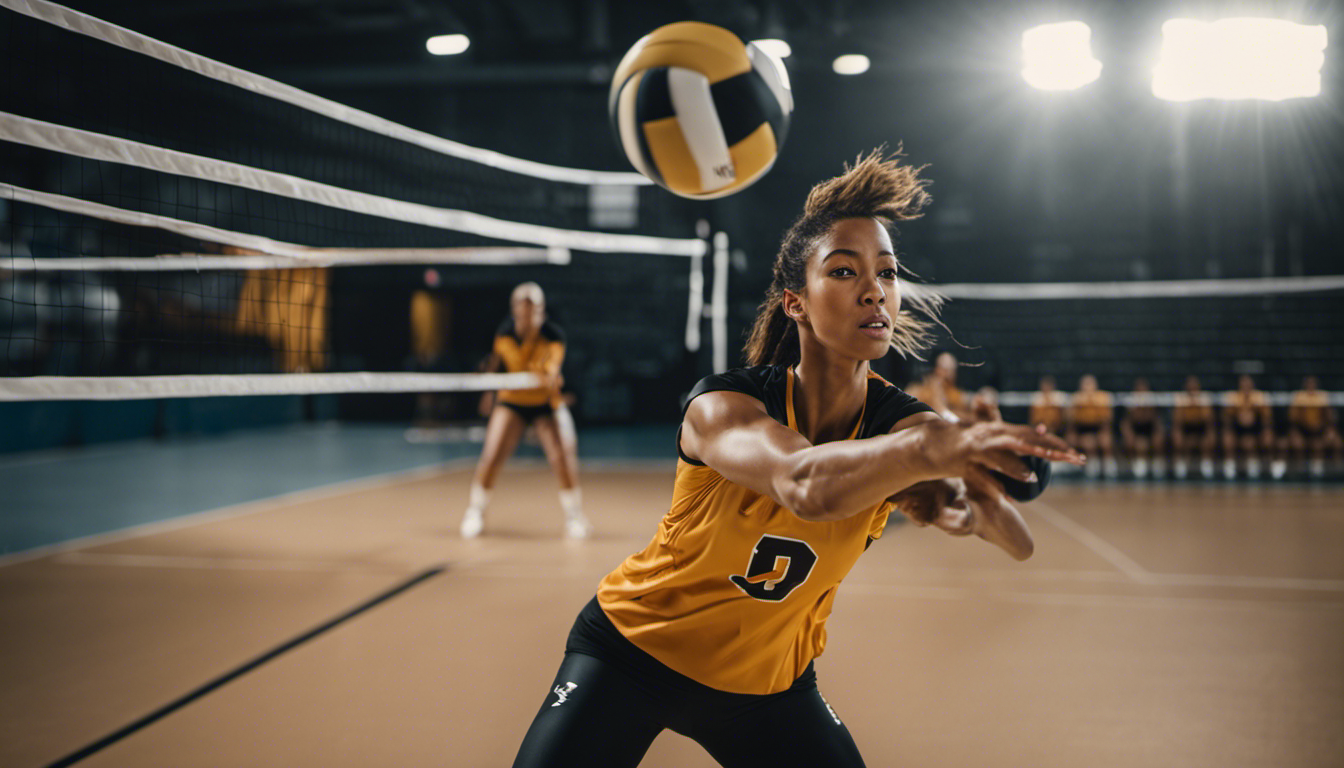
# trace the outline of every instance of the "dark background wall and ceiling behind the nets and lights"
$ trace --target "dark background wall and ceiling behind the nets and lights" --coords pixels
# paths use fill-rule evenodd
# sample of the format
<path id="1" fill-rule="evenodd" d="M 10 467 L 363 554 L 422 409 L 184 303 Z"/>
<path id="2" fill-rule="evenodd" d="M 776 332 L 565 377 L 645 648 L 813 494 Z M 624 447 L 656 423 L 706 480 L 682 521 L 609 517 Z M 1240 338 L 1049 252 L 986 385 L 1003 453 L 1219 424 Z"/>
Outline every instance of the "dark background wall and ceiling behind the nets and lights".
<path id="1" fill-rule="evenodd" d="M 734 362 L 767 284 L 774 249 L 808 188 L 840 172 L 845 160 L 882 144 L 903 144 L 910 161 L 929 165 L 934 204 L 923 219 L 903 226 L 898 241 L 905 265 L 929 281 L 1340 272 L 1344 109 L 1336 51 L 1327 51 L 1322 94 L 1312 100 L 1169 104 L 1156 100 L 1148 86 L 1160 26 L 1169 16 L 1274 15 L 1325 24 L 1336 32 L 1341 28 L 1336 4 L 1206 1 L 1177 9 L 1157 1 L 71 0 L 69 5 L 465 144 L 613 171 L 628 169 L 628 164 L 607 125 L 609 77 L 640 35 L 664 23 L 698 19 L 743 38 L 788 39 L 794 51 L 786 63 L 797 110 L 770 175 L 715 202 L 687 202 L 642 188 L 640 221 L 632 230 L 691 237 L 695 222 L 707 219 L 730 235 L 728 338 Z M 1020 32 L 1036 23 L 1067 19 L 1091 26 L 1093 50 L 1105 66 L 1102 77 L 1079 91 L 1035 91 L 1019 74 Z M 423 163 L 371 145 L 352 130 L 328 129 L 288 108 L 245 104 L 246 94 L 202 78 L 173 85 L 183 95 L 165 98 L 169 86 L 151 67 L 137 70 L 133 81 L 122 81 L 122 86 L 130 85 L 120 95 L 108 95 L 112 91 L 97 86 L 98 78 L 109 74 L 99 56 L 121 54 L 101 54 L 97 43 L 58 40 L 81 47 L 87 58 L 67 58 L 59 75 L 67 78 L 62 81 L 66 85 L 43 87 L 40 77 L 56 77 L 48 66 L 55 59 L 43 58 L 19 22 L 5 23 L 12 24 L 4 28 L 9 61 L 19 65 L 12 71 L 34 73 L 9 78 L 5 98 L 15 112 L 48 109 L 98 129 L 129 125 L 134 126 L 132 137 L 163 133 L 142 140 L 176 141 L 184 149 L 208 149 L 212 156 L 234 153 L 239 161 L 305 178 L 427 204 L 590 229 L 582 188 L 515 186 L 509 175 L 464 163 Z M 425 38 L 444 32 L 470 35 L 472 48 L 462 56 L 429 55 Z M 867 54 L 874 67 L 864 75 L 839 77 L 829 63 L 840 52 Z M 71 114 L 56 101 L 70 93 L 86 93 L 85 101 L 102 106 Z M 204 101 L 194 104 L 194 98 Z M 5 180 L 110 195 L 90 182 L 103 178 L 106 168 L 13 147 L 3 152 Z M 149 192 L 128 195 L 129 182 L 118 183 L 122 199 L 151 207 L 167 204 L 149 200 Z M 134 183 L 157 188 L 153 179 Z M 344 238 L 328 245 L 386 242 L 388 237 L 382 223 L 335 221 L 329 213 L 298 204 L 253 200 L 181 182 L 175 182 L 173 190 L 172 211 L 219 226 L 251 226 L 258 234 L 297 242 Z M 23 215 L 35 214 L 16 206 L 8 221 Z M 85 249 L 87 229 L 58 222 L 30 231 L 38 234 L 35 253 L 69 256 Z M 481 242 L 448 242 L 442 233 L 414 227 L 402 227 L 396 235 L 409 238 L 407 243 Z M 94 234 L 105 252 L 114 246 L 125 253 L 148 249 L 146 237 L 108 230 Z M 155 249 L 161 246 L 153 243 Z M 543 282 L 556 317 L 570 331 L 566 377 L 579 397 L 581 420 L 675 418 L 676 395 L 708 373 L 707 346 L 698 354 L 683 347 L 685 260 L 582 253 L 563 268 L 445 270 L 434 291 L 454 307 L 446 366 L 472 370 L 504 315 L 508 289 L 524 278 Z M 410 354 L 406 303 L 418 289 L 426 289 L 418 268 L 340 270 L 332 289 L 335 367 L 405 369 Z M 1180 371 L 1189 369 L 1203 371 L 1211 387 L 1231 386 L 1239 370 L 1258 370 L 1269 377 L 1270 387 L 1286 389 L 1310 370 L 1322 374 L 1327 387 L 1337 389 L 1344 387 L 1344 370 L 1337 366 L 1344 359 L 1339 305 L 1333 297 L 1306 303 L 1227 299 L 1185 308 L 1176 301 L 1124 308 L 1086 301 L 1044 308 L 965 303 L 948 311 L 949 325 L 964 346 L 950 338 L 943 346 L 984 363 L 965 371 L 968 385 L 1023 389 L 1042 373 L 1071 382 L 1094 371 L 1107 387 L 1128 387 L 1133 375 L 1148 374 L 1163 389 L 1176 386 Z M 704 331 L 708 339 L 707 323 Z M 1289 344 L 1286 339 L 1310 340 Z M 879 370 L 905 381 L 917 375 L 919 366 L 890 359 Z M 302 418 L 314 410 L 327 413 L 324 408 L 290 405 L 276 413 L 281 420 Z M 345 398 L 336 413 L 406 418 L 411 408 L 410 397 Z M 163 410 L 156 409 L 148 421 L 151 430 L 155 424 L 163 429 Z M 141 416 L 133 421 L 145 424 L 148 410 L 136 413 Z M 79 432 L 85 440 L 94 433 L 98 430 Z"/>

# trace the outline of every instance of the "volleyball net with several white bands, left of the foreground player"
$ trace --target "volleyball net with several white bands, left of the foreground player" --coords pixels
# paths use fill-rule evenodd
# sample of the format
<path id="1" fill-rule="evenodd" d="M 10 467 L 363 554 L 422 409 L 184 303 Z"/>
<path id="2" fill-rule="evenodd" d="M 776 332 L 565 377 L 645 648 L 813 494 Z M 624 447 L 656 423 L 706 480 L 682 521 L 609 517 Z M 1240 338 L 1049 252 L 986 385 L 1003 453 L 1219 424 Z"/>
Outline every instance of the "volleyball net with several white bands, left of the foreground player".
<path id="1" fill-rule="evenodd" d="M 531 386 L 473 373 L 526 280 L 685 317 L 692 351 L 724 316 L 710 233 L 637 174 L 468 147 L 44 0 L 0 0 L 0 399 Z"/>

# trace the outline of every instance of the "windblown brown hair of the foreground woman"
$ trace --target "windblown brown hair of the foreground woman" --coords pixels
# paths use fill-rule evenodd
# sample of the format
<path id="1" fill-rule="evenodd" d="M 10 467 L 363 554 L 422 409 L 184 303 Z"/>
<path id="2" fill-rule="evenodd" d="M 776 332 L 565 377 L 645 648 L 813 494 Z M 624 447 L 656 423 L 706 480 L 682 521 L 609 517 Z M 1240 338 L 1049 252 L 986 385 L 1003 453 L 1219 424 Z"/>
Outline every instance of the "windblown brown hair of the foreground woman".
<path id="1" fill-rule="evenodd" d="M 919 210 L 929 203 L 927 182 L 919 178 L 923 167 L 899 163 L 900 148 L 884 157 L 886 147 L 860 155 L 853 165 L 845 163 L 844 174 L 821 182 L 808 194 L 802 215 L 784 235 L 780 253 L 774 257 L 774 280 L 757 309 L 755 323 L 747 336 L 745 356 L 747 364 L 793 364 L 798 362 L 798 325 L 784 312 L 784 292 L 801 293 L 806 286 L 808 258 L 817 241 L 831 231 L 840 219 L 872 218 L 895 235 L 891 225 L 919 218 Z M 913 305 L 934 321 L 942 307 L 942 296 L 929 289 L 905 285 L 902 304 Z M 891 346 L 906 356 L 919 358 L 933 342 L 933 323 L 921 320 L 902 309 L 891 320 Z"/>

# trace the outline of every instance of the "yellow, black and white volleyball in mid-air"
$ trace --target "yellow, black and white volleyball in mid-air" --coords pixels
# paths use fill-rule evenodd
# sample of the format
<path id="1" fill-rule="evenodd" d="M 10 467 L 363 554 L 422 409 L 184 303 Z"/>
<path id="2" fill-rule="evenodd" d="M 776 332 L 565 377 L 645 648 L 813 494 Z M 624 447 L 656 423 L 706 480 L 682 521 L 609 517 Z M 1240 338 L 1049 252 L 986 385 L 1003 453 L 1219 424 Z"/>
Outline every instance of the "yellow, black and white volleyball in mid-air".
<path id="1" fill-rule="evenodd" d="M 770 169 L 793 94 L 780 59 L 722 27 L 677 22 L 625 54 L 607 106 L 640 174 L 683 198 L 712 199 Z"/>

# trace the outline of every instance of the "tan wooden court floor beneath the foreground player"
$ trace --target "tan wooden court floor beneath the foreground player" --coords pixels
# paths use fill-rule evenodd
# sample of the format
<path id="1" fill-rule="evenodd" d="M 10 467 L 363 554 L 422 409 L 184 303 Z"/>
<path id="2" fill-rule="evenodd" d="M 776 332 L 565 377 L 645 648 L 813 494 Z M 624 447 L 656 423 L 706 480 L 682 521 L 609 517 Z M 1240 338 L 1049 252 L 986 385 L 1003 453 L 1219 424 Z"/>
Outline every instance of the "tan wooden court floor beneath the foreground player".
<path id="1" fill-rule="evenodd" d="M 523 461 L 477 541 L 456 533 L 454 468 L 0 566 L 0 767 L 508 765 L 574 613 L 671 479 L 590 467 L 585 542 L 559 538 L 554 480 Z M 817 671 L 868 765 L 1344 765 L 1344 491 L 1043 502 L 1025 564 L 906 525 L 841 588 Z M 644 765 L 712 763 L 664 733 Z"/>

